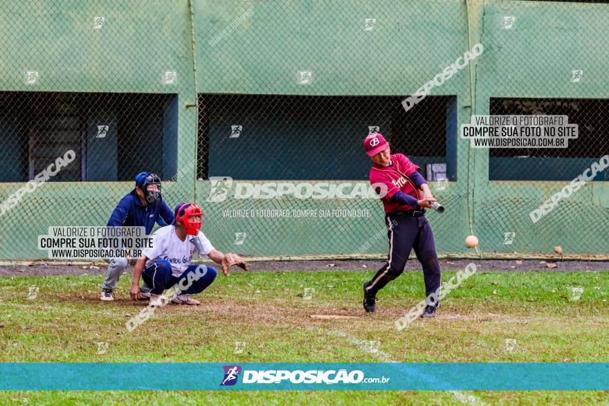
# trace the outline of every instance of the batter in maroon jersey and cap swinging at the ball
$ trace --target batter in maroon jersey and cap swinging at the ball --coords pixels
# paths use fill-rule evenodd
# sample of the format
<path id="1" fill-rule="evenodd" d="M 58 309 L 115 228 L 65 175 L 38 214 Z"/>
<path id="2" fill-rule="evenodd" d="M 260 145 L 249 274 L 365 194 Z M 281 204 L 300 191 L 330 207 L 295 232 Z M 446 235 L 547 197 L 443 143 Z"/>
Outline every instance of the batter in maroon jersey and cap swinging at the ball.
<path id="1" fill-rule="evenodd" d="M 417 259 L 423 266 L 427 295 L 425 311 L 421 317 L 434 317 L 439 303 L 437 296 L 432 293 L 441 284 L 440 266 L 424 207 L 431 207 L 431 203 L 436 200 L 427 181 L 417 172 L 419 167 L 403 154 L 391 155 L 389 143 L 380 133 L 370 133 L 364 140 L 364 148 L 372 159 L 370 183 L 387 187 L 382 191 L 376 188 L 376 193 L 383 201 L 389 237 L 387 264 L 364 284 L 364 309 L 367 312 L 374 311 L 376 293 L 403 272 L 410 251 L 414 248 Z"/>

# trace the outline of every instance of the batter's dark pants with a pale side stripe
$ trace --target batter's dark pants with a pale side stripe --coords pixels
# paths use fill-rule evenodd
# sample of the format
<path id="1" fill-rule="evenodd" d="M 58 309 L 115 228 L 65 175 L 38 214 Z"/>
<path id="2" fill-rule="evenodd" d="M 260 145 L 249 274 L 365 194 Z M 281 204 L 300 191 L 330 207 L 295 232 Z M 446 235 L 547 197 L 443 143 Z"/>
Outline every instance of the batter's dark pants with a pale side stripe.
<path id="1" fill-rule="evenodd" d="M 425 216 L 405 217 L 388 214 L 385 216 L 385 225 L 388 228 L 389 237 L 388 261 L 366 284 L 366 290 L 376 294 L 390 281 L 399 277 L 406 266 L 410 251 L 414 248 L 415 255 L 423 266 L 428 304 L 436 305 L 437 303 L 433 302 L 436 296 L 434 295 L 430 301 L 430 294 L 440 287 L 442 280 L 440 265 L 435 253 L 433 232 L 431 232 L 427 219 Z"/>

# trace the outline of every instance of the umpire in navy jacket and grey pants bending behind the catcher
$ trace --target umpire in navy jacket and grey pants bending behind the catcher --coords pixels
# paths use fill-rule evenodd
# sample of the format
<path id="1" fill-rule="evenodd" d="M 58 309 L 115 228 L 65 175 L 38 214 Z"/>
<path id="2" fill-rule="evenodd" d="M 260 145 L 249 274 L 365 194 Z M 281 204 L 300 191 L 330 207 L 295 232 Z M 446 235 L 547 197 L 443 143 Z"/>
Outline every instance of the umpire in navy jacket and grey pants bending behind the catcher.
<path id="1" fill-rule="evenodd" d="M 174 212 L 161 198 L 161 178 L 150 172 L 136 176 L 136 187 L 120 199 L 110 215 L 108 227 L 138 226 L 146 228 L 150 234 L 154 223 L 163 227 L 174 223 Z M 104 302 L 114 300 L 113 290 L 118 278 L 127 268 L 127 258 L 111 258 L 106 280 L 102 285 L 100 299 Z M 149 289 L 143 286 L 142 297 L 150 297 Z"/>

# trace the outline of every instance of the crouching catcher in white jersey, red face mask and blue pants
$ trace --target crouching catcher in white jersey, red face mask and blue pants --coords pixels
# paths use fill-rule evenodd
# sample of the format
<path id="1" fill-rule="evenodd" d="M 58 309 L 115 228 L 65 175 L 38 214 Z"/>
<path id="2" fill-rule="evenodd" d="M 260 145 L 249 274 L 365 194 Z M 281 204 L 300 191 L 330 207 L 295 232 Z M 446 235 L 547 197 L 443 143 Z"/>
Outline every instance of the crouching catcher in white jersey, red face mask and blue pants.
<path id="1" fill-rule="evenodd" d="M 199 252 L 201 257 L 207 256 L 217 264 L 222 265 L 222 273 L 228 275 L 230 266 L 237 265 L 248 270 L 245 261 L 232 253 L 226 255 L 216 250 L 201 232 L 201 208 L 195 203 L 180 203 L 175 210 L 173 225 L 161 227 L 152 234 L 152 248 L 146 248 L 134 268 L 131 282 L 131 299 L 140 299 L 140 277 L 150 286 L 150 304 L 163 306 L 167 303 L 163 291 L 172 288 L 179 282 L 184 286 L 188 279 L 188 288 L 171 297 L 176 304 L 201 304 L 199 300 L 190 297 L 201 293 L 216 279 L 216 270 L 211 266 L 203 271 L 197 271 L 196 265 L 191 265 L 192 255 Z M 184 281 L 182 279 L 185 279 Z"/>

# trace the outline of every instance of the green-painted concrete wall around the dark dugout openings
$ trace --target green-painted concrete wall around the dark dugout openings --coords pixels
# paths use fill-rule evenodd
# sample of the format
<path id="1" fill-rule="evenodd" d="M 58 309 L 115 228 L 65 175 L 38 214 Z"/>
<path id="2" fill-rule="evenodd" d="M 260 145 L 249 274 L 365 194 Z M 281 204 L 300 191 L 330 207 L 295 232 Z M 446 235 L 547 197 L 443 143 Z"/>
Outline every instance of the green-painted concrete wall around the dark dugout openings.
<path id="1" fill-rule="evenodd" d="M 251 18 L 210 46 L 247 10 Z M 91 30 L 98 15 L 106 18 L 104 26 Z M 500 28 L 505 15 L 516 17 L 516 29 Z M 363 30 L 365 18 L 376 19 L 376 31 Z M 180 176 L 164 183 L 163 192 L 171 205 L 201 203 L 203 228 L 217 248 L 246 255 L 348 254 L 382 230 L 378 201 L 273 201 L 273 207 L 290 210 L 371 212 L 365 219 L 323 221 L 226 219 L 222 210 L 271 207 L 205 201 L 210 185 L 196 181 L 190 165 L 197 151 L 198 94 L 409 95 L 482 41 L 484 54 L 471 71 L 460 71 L 432 93 L 456 96 L 458 124 L 473 113 L 489 113 L 491 97 L 609 98 L 608 19 L 607 4 L 537 1 L 158 0 L 111 7 L 25 1 L 0 10 L 0 91 L 176 94 Z M 569 81 L 572 69 L 583 69 L 581 82 Z M 37 84 L 25 84 L 28 70 L 39 71 Z M 299 70 L 313 72 L 311 85 L 297 84 Z M 165 71 L 176 71 L 176 83 L 162 83 Z M 457 181 L 435 192 L 447 210 L 428 215 L 440 253 L 466 252 L 463 240 L 471 233 L 480 237 L 482 252 L 549 252 L 554 245 L 570 254 L 609 251 L 606 182 L 586 185 L 532 224 L 528 213 L 564 182 L 489 182 L 488 151 L 469 149 L 461 139 L 456 149 Z M 597 160 L 607 152 L 598 151 Z M 1 201 L 22 185 L 1 183 Z M 131 187 L 48 183 L 26 194 L 0 216 L 0 258 L 42 257 L 37 235 L 49 225 L 104 224 Z M 244 244 L 233 244 L 235 232 L 248 233 Z M 504 232 L 516 232 L 512 245 L 503 243 Z M 386 249 L 383 237 L 366 252 Z"/>

